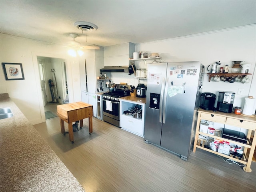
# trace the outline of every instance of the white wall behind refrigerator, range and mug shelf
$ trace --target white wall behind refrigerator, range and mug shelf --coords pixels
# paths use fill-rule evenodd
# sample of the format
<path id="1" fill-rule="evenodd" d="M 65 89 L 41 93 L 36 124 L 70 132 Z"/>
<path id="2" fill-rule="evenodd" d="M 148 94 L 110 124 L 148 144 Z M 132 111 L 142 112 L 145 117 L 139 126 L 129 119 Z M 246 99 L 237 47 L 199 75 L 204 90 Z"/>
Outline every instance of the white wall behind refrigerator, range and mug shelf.
<path id="1" fill-rule="evenodd" d="M 217 94 L 220 90 L 226 90 L 237 93 L 238 88 L 243 88 L 242 95 L 236 94 L 234 106 L 243 106 L 244 97 L 247 97 L 249 92 L 256 98 L 256 25 L 137 44 L 136 52 L 139 51 L 145 51 L 148 54 L 157 52 L 163 58 L 162 62 L 200 60 L 206 68 L 218 61 L 222 63 L 221 66 L 228 64 L 231 68 L 232 61 L 244 60 L 243 63 L 252 64 L 249 72 L 253 74 L 249 76 L 252 80 L 250 83 L 208 82 L 208 75 L 205 74 L 202 91 Z M 147 61 L 147 63 L 150 62 L 152 61 Z M 136 61 L 136 68 L 144 68 L 144 62 Z M 138 85 L 134 75 L 129 77 L 128 74 L 112 73 L 111 76 L 117 84 L 127 82 Z"/>

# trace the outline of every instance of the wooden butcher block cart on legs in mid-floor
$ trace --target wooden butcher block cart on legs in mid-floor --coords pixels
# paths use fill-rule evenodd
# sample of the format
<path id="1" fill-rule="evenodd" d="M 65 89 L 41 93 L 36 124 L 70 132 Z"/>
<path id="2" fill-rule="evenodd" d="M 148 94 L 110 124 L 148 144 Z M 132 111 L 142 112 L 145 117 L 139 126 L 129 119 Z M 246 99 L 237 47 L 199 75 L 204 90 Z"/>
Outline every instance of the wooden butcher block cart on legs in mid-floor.
<path id="1" fill-rule="evenodd" d="M 75 102 L 57 105 L 57 115 L 60 118 L 61 133 L 66 134 L 64 121 L 68 123 L 68 134 L 70 142 L 74 143 L 72 122 L 80 121 L 80 127 L 84 126 L 83 119 L 89 118 L 89 134 L 92 133 L 93 107 L 84 102 Z"/>

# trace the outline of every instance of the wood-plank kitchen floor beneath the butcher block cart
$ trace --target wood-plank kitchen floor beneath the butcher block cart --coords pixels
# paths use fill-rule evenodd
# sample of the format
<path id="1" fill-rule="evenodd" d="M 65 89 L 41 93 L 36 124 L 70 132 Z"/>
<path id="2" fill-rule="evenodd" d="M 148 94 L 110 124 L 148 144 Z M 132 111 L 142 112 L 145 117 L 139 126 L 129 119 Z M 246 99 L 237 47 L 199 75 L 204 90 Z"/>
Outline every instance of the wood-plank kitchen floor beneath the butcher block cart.
<path id="1" fill-rule="evenodd" d="M 86 192 L 256 191 L 256 162 L 247 173 L 200 149 L 184 161 L 97 118 L 91 135 L 84 119 L 84 127 L 74 132 L 74 144 L 60 133 L 59 118 L 34 127 Z"/>

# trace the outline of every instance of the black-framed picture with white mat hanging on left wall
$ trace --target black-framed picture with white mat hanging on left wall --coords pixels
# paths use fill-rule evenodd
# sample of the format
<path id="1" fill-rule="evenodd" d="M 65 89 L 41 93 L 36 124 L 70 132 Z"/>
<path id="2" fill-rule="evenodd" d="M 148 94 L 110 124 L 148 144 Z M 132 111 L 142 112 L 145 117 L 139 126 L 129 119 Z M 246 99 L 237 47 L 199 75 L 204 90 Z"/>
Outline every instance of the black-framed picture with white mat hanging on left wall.
<path id="1" fill-rule="evenodd" d="M 21 63 L 2 63 L 6 80 L 24 79 Z"/>

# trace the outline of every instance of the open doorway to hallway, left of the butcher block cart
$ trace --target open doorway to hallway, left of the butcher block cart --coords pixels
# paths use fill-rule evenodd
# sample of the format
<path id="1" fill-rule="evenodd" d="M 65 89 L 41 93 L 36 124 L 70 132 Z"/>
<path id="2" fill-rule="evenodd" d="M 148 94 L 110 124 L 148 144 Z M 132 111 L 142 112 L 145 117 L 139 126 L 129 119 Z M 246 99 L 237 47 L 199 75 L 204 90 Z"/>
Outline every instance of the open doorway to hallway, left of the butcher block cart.
<path id="1" fill-rule="evenodd" d="M 40 86 L 46 120 L 57 113 L 68 94 L 66 63 L 64 59 L 37 56 Z"/>

